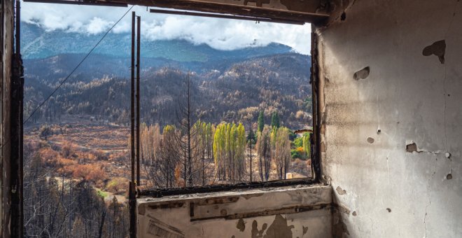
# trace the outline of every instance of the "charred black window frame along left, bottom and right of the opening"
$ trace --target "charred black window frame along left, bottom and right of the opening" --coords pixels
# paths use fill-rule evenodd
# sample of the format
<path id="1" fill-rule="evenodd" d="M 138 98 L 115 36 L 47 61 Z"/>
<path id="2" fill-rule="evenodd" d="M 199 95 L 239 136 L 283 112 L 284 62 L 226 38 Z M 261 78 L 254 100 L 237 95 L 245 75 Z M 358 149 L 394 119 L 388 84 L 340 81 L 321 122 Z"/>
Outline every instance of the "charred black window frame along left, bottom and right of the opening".
<path id="1" fill-rule="evenodd" d="M 48 0 L 48 1 L 53 1 L 53 0 Z M 18 1 L 19 2 L 19 1 Z M 2 2 L 3 3 L 3 2 Z M 62 2 L 61 2 L 62 3 Z M 76 2 L 78 4 L 78 2 Z M 89 3 L 90 5 L 93 5 L 92 3 Z M 101 5 L 101 3 L 95 3 L 94 5 Z M 122 4 L 124 5 L 124 4 Z M 18 4 L 19 6 L 19 4 Z M 3 8 L 3 5 L 2 5 Z M 19 7 L 18 7 L 19 8 Z M 18 9 L 17 8 L 17 9 Z M 2 12 L 3 13 L 3 12 Z M 20 11 L 18 10 L 18 13 L 15 15 L 15 19 L 18 22 L 18 28 L 20 27 Z M 3 21 L 3 15 L 2 19 Z M 0 27 L 1 32 L 3 32 L 5 29 L 3 29 L 3 25 Z M 314 24 L 311 24 L 311 69 L 310 69 L 310 84 L 311 84 L 311 92 L 312 92 L 312 97 L 311 97 L 311 102 L 312 102 L 312 116 L 313 116 L 313 137 L 310 137 L 310 142 L 311 142 L 311 177 L 309 178 L 304 178 L 304 179 L 285 179 L 285 180 L 276 180 L 276 181 L 265 181 L 265 182 L 251 182 L 251 183 L 230 183 L 230 184 L 225 184 L 225 185 L 218 185 L 218 186 L 201 186 L 201 187 L 189 187 L 189 188 L 169 188 L 169 189 L 157 189 L 157 190 L 142 190 L 137 193 L 136 197 L 141 197 L 141 196 L 149 196 L 149 197 L 163 197 L 167 195 L 186 195 L 186 194 L 191 194 L 191 193 L 210 193 L 210 192 L 223 192 L 227 190 L 237 190 L 237 189 L 244 189 L 244 188 L 275 188 L 275 187 L 282 187 L 282 186 L 295 186 L 295 185 L 303 185 L 303 184 L 314 184 L 314 183 L 319 183 L 321 179 L 321 153 L 319 152 L 321 149 L 321 141 L 320 141 L 320 123 L 321 122 L 321 117 L 319 116 L 319 105 L 318 105 L 318 41 L 317 41 L 317 34 L 314 31 Z M 20 31 L 17 31 L 17 34 Z M 19 45 L 19 34 L 17 35 L 18 38 L 18 43 L 16 44 L 18 50 L 16 50 L 16 54 L 18 55 L 17 59 L 21 59 L 20 57 L 20 45 Z M 2 37 L 3 41 L 3 37 Z M 13 55 L 13 54 L 12 54 Z M 21 62 L 22 63 L 22 62 Z M 20 64 L 22 65 L 22 64 Z M 0 69 L 5 69 L 8 66 L 4 66 L 3 64 L 0 65 Z M 13 68 L 13 65 L 12 65 Z M 2 72 L 3 73 L 3 72 Z M 16 73 L 16 76 L 18 76 L 18 73 Z M 22 81 L 23 82 L 23 81 Z M 20 85 L 20 91 L 22 92 L 24 90 L 24 84 Z M 0 94 L 3 96 L 3 91 Z M 2 102 L 2 108 L 3 108 L 3 102 Z M 2 110 L 3 113 L 3 110 Z M 21 110 L 18 112 L 20 121 L 22 121 L 23 117 L 23 110 L 22 110 L 22 102 L 21 102 Z M 2 127 L 3 130 L 3 127 Z M 3 141 L 2 141 L 3 142 Z M 8 141 L 9 142 L 9 141 Z M 6 142 L 8 144 L 8 142 Z M 18 146 L 20 147 L 20 153 L 19 155 L 19 173 L 15 175 L 14 178 L 11 179 L 18 179 L 20 183 L 22 183 L 23 179 L 23 172 L 22 172 L 22 145 L 23 145 L 23 130 L 22 130 L 22 125 L 20 125 L 20 134 L 19 138 L 13 142 L 18 142 Z M 3 148 L 3 143 L 2 143 L 2 148 Z M 130 186 L 130 189 L 132 189 L 132 186 Z M 20 193 L 17 193 L 17 197 L 19 201 L 16 201 L 17 203 L 19 202 L 20 209 L 18 211 L 15 211 L 16 216 L 14 216 L 10 221 L 10 226 L 13 228 L 11 230 L 11 234 L 16 234 L 19 237 L 22 237 L 22 221 L 23 221 L 23 208 L 22 208 L 22 201 L 24 197 L 22 197 L 22 186 L 20 187 Z M 136 223 L 132 224 L 132 221 L 136 218 L 136 212 L 134 209 L 136 209 L 136 197 L 134 200 L 130 200 L 130 236 L 131 237 L 136 237 Z M 8 201 L 7 201 L 8 202 Z M 12 204 L 13 205 L 13 204 Z M 11 211 L 11 210 L 10 210 Z M 8 211 L 5 211 L 8 212 Z M 6 225 L 6 224 L 2 224 Z"/>

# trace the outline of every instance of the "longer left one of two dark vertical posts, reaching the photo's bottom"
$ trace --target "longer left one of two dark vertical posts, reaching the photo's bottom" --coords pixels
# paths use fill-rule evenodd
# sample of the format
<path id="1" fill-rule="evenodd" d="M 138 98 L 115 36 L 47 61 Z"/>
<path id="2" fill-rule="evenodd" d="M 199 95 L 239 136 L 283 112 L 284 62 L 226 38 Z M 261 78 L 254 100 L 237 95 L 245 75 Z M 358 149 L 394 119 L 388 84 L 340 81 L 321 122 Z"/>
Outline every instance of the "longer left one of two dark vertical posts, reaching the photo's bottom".
<path id="1" fill-rule="evenodd" d="M 130 120 L 130 147 L 131 147 L 131 162 L 132 162 L 132 180 L 130 181 L 130 188 L 129 188 L 129 205 L 130 205 L 130 237 L 135 238 L 137 237 L 137 219 L 136 219 L 136 211 L 137 211 L 137 200 L 134 195 L 134 182 L 135 182 L 135 151 L 134 151 L 134 34 L 135 34 L 135 13 L 132 12 L 132 77 L 131 77 L 131 120 Z"/>

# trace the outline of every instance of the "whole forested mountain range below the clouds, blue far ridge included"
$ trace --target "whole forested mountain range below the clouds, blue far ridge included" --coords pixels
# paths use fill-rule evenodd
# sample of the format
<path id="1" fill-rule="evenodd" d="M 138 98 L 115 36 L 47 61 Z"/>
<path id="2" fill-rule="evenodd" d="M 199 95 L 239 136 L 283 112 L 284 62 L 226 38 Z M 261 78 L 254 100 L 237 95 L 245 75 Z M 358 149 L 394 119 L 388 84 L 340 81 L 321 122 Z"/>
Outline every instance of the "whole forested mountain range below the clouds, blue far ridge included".
<path id="1" fill-rule="evenodd" d="M 25 116 L 47 97 L 102 35 L 66 30 L 45 31 L 22 24 L 25 64 Z M 34 121 L 85 114 L 125 124 L 130 102 L 130 34 L 108 34 L 73 73 Z M 141 111 L 147 123 L 175 123 L 175 110 L 190 72 L 195 116 L 256 120 L 281 113 L 286 125 L 306 123 L 309 104 L 309 55 L 287 45 L 216 50 L 184 40 L 141 41 Z M 302 116 L 300 119 L 300 112 Z M 297 116 L 295 116 L 297 115 Z M 269 119 L 268 119 L 269 120 Z"/>

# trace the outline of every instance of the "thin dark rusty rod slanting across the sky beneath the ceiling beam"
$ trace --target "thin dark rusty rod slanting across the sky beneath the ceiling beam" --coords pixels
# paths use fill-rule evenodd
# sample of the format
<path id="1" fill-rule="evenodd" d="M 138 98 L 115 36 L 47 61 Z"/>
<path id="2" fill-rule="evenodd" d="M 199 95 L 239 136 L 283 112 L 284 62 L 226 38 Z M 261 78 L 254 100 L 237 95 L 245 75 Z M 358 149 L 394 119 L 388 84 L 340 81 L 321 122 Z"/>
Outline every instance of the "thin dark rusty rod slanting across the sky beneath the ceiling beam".
<path id="1" fill-rule="evenodd" d="M 195 17 L 204 17 L 204 18 L 221 18 L 221 19 L 233 19 L 233 20 L 251 20 L 255 22 L 273 22 L 273 23 L 284 23 L 284 24 L 293 24 L 293 25 L 304 25 L 304 22 L 297 22 L 292 20 L 282 20 L 282 19 L 273 19 L 273 18 L 253 18 L 246 17 L 242 15 L 223 15 L 223 14 L 214 14 L 214 13 L 196 13 L 188 12 L 183 10 L 162 10 L 162 9 L 150 9 L 150 13 L 160 13 L 160 14 L 173 14 L 173 15 L 190 15 Z"/>

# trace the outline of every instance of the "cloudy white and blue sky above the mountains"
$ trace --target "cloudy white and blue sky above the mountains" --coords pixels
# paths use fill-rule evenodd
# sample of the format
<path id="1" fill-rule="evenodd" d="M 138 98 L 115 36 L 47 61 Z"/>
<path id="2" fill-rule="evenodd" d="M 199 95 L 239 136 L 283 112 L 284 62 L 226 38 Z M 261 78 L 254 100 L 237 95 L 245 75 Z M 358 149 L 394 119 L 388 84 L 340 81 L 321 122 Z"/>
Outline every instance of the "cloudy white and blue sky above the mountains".
<path id="1" fill-rule="evenodd" d="M 21 20 L 38 24 L 47 31 L 100 34 L 112 27 L 129 8 L 23 2 Z M 207 43 L 218 50 L 235 50 L 276 42 L 288 45 L 304 55 L 309 55 L 311 47 L 309 24 L 300 26 L 165 15 L 149 13 L 146 7 L 141 6 L 134 6 L 132 10 L 141 15 L 141 37 L 152 41 L 184 39 L 195 44 Z M 131 16 L 128 13 L 112 32 L 129 33 Z"/>

